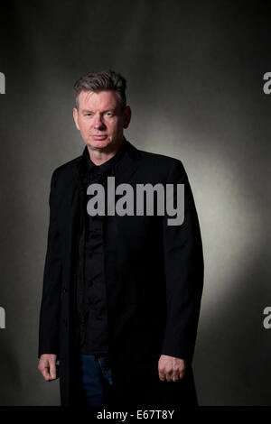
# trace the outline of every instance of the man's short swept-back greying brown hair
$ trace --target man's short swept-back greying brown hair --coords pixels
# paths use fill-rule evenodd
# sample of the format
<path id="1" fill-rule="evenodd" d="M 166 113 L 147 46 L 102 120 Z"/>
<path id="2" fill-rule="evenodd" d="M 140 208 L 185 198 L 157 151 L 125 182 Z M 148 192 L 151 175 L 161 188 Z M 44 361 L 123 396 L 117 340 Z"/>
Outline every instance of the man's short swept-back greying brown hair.
<path id="1" fill-rule="evenodd" d="M 79 94 L 81 91 L 93 91 L 98 93 L 99 91 L 106 90 L 116 91 L 119 105 L 123 110 L 126 107 L 126 78 L 117 74 L 114 70 L 89 72 L 76 81 L 73 86 L 73 91 L 77 109 L 79 109 Z"/>

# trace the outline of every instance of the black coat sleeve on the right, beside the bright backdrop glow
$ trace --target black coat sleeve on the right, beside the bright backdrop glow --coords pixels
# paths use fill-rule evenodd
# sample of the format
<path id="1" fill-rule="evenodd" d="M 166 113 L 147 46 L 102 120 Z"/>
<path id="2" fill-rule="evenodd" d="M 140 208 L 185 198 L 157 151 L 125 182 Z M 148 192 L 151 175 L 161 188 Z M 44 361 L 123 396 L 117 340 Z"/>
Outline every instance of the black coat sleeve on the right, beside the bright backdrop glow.
<path id="1" fill-rule="evenodd" d="M 175 201 L 176 184 L 184 184 L 184 220 L 182 225 L 169 226 L 169 216 L 164 216 L 166 325 L 161 354 L 192 362 L 203 288 L 201 231 L 181 161 L 175 161 L 167 183 L 173 184 Z"/>

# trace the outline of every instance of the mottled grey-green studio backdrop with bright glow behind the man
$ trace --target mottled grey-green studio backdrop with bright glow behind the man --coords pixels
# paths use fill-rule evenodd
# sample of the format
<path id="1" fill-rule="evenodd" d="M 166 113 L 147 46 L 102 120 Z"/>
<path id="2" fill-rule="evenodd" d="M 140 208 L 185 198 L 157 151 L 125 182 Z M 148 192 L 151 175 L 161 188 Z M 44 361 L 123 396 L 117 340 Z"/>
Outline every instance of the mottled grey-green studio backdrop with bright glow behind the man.
<path id="1" fill-rule="evenodd" d="M 51 173 L 84 147 L 74 81 L 114 69 L 133 112 L 126 138 L 180 159 L 191 181 L 205 259 L 199 403 L 271 405 L 270 6 L 17 0 L 1 9 L 0 404 L 60 404 L 59 381 L 37 369 Z"/>

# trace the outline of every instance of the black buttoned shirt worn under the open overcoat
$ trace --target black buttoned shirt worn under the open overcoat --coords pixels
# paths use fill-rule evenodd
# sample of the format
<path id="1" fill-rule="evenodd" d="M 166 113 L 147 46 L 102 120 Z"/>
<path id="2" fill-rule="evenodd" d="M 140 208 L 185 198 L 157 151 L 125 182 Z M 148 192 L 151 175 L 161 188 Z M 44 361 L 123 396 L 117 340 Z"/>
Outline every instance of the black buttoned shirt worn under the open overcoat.
<path id="1" fill-rule="evenodd" d="M 107 199 L 107 177 L 114 176 L 126 149 L 124 139 L 117 153 L 101 165 L 95 165 L 89 158 L 89 151 L 84 152 L 87 161 L 85 184 L 99 183 L 105 188 Z M 85 187 L 85 189 L 87 189 Z M 87 199 L 87 201 L 89 198 Z M 106 209 L 107 210 L 107 209 Z M 87 310 L 86 322 L 81 327 L 80 353 L 98 355 L 108 353 L 107 327 L 107 292 L 104 274 L 104 224 L 105 217 L 90 217 L 85 208 L 85 243 L 84 243 L 84 302 Z M 82 330 L 83 328 L 83 330 Z"/>

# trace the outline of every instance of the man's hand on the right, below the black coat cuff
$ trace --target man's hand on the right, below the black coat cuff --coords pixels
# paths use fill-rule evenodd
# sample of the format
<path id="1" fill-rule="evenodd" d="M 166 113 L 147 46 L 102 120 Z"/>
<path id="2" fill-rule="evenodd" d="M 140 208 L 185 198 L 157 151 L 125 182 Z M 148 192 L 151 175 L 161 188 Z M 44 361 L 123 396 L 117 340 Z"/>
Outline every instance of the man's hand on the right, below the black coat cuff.
<path id="1" fill-rule="evenodd" d="M 174 356 L 161 355 L 158 362 L 158 373 L 160 380 L 177 382 L 185 375 L 186 361 Z"/>

